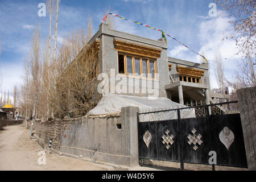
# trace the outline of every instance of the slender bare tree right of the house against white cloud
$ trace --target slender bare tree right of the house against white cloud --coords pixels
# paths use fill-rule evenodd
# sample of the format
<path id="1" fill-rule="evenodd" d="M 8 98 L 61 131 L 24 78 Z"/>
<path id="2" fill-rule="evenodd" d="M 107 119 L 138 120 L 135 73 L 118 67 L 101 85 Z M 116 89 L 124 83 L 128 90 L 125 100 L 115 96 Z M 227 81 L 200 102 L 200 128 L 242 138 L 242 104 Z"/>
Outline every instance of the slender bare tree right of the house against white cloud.
<path id="1" fill-rule="evenodd" d="M 220 50 L 217 48 L 214 56 L 214 75 L 216 77 L 216 81 L 218 83 L 218 88 L 221 89 L 221 93 L 225 93 L 224 91 L 224 64 L 222 60 L 222 56 Z"/>

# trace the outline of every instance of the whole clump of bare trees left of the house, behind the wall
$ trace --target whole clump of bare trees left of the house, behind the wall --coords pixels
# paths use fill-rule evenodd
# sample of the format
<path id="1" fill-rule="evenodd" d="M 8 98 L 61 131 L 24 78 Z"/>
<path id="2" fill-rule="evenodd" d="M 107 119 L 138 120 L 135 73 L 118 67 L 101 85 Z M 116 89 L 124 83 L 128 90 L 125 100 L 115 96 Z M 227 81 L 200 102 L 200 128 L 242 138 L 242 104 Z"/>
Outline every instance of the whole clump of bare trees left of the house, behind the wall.
<path id="1" fill-rule="evenodd" d="M 28 64 L 24 64 L 24 80 L 20 89 L 20 105 L 26 113 L 33 113 L 32 123 L 35 114 L 38 117 L 49 116 L 48 108 L 54 117 L 59 118 L 85 115 L 100 100 L 101 94 L 95 92 L 100 42 L 88 45 L 93 34 L 90 18 L 85 30 L 72 31 L 64 36 L 63 42 L 56 46 L 56 60 L 48 65 L 48 42 L 41 51 L 40 29 L 35 28 L 31 56 Z M 33 102 L 28 100 L 34 100 L 34 108 Z"/>

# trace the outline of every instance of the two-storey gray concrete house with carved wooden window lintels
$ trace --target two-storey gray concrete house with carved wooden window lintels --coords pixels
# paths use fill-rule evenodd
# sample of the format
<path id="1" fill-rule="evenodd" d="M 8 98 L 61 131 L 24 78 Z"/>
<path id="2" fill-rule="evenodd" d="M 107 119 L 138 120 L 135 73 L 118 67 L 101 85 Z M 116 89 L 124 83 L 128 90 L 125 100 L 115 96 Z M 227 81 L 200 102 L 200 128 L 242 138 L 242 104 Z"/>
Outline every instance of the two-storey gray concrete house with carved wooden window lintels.
<path id="1" fill-rule="evenodd" d="M 168 57 L 164 38 L 152 40 L 113 30 L 107 19 L 88 44 L 96 42 L 98 73 L 110 78 L 105 92 L 148 97 L 154 90 L 154 96 L 180 104 L 198 100 L 209 103 L 208 64 Z M 120 80 L 125 80 L 125 92 L 116 89 Z"/>

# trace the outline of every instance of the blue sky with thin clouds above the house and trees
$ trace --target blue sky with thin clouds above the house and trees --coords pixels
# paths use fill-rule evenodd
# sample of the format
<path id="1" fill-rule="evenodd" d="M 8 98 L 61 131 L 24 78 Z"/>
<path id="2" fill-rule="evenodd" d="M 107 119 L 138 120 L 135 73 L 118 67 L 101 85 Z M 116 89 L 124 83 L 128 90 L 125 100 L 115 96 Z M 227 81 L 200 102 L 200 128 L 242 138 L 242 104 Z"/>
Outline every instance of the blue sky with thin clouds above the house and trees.
<path id="1" fill-rule="evenodd" d="M 231 79 L 236 70 L 239 56 L 234 40 L 221 39 L 233 32 L 228 23 L 231 18 L 217 6 L 217 17 L 210 17 L 209 4 L 212 0 L 112 0 L 112 1 L 69 1 L 61 0 L 59 9 L 59 40 L 76 28 L 85 28 L 88 16 L 93 19 L 93 31 L 97 32 L 101 19 L 110 7 L 112 13 L 130 20 L 160 28 L 196 52 L 204 51 L 210 63 L 212 88 L 216 87 L 213 74 L 214 50 L 218 46 L 225 61 L 225 77 Z M 42 40 L 48 37 L 49 16 L 38 16 L 38 4 L 45 0 L 0 0 L 0 40 L 2 53 L 0 69 L 3 77 L 0 90 L 13 90 L 14 84 L 22 82 L 23 61 L 30 54 L 31 36 L 34 26 L 40 24 Z M 130 34 L 150 39 L 159 39 L 160 32 L 150 28 L 114 18 L 115 28 Z M 54 26 L 53 26 L 54 27 Z M 53 29 L 52 29 L 53 31 Z M 53 36 L 52 36 L 53 39 Z M 53 43 L 52 43 L 53 45 Z M 168 39 L 168 56 L 199 63 L 200 57 L 187 48 Z"/>

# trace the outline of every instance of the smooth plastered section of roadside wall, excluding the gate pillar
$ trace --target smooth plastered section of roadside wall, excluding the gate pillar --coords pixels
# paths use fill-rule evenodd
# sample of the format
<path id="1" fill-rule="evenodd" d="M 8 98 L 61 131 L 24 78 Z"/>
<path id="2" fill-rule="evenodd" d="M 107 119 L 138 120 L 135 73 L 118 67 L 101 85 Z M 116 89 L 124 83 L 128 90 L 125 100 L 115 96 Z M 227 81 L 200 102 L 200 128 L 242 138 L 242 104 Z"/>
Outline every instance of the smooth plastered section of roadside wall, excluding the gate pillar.
<path id="1" fill-rule="evenodd" d="M 69 123 L 60 134 L 60 151 L 86 158 L 129 163 L 129 156 L 122 156 L 122 130 L 117 129 L 120 117 L 85 118 Z"/>

